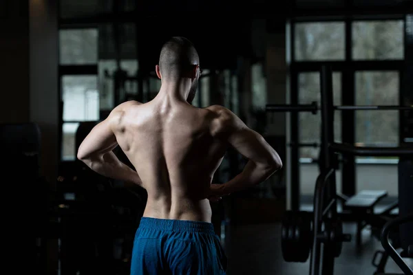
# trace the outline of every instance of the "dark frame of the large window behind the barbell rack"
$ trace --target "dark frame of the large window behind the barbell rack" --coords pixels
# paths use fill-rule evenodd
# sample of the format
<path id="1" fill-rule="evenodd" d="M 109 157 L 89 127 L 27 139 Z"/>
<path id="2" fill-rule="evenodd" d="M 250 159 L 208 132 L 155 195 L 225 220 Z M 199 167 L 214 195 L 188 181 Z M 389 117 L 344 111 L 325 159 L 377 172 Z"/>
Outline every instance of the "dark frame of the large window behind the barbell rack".
<path id="1" fill-rule="evenodd" d="M 355 74 L 359 71 L 397 71 L 399 72 L 399 104 L 401 102 L 402 89 L 403 89 L 403 68 L 404 60 L 354 60 L 352 59 L 352 23 L 360 21 L 395 21 L 402 20 L 405 25 L 405 17 L 403 14 L 383 14 L 377 16 L 352 16 L 352 17 L 293 17 L 290 19 L 290 28 L 287 36 L 290 37 L 290 43 L 287 51 L 290 53 L 290 72 L 289 72 L 289 102 L 290 104 L 298 104 L 299 100 L 299 87 L 298 77 L 300 73 L 304 72 L 319 72 L 321 65 L 330 65 L 333 72 L 341 73 L 341 104 L 354 105 L 355 103 Z M 316 23 L 316 22 L 344 22 L 344 51 L 345 58 L 342 61 L 297 61 L 295 59 L 295 25 L 296 23 Z M 288 45 L 288 44 L 287 44 Z M 405 31 L 403 30 L 403 47 L 405 47 Z M 346 95 L 345 95 L 346 94 Z M 349 96 L 352 95 L 352 96 Z M 352 111 L 350 111 L 352 112 Z M 341 115 L 341 140 L 343 142 L 353 143 L 355 141 L 355 114 L 354 111 L 350 113 L 347 111 L 346 115 Z M 288 144 L 299 144 L 299 114 L 292 112 L 288 114 L 290 116 L 289 124 L 289 137 Z M 343 118 L 351 120 L 351 123 L 343 123 Z M 401 115 L 399 115 L 399 121 L 401 121 Z M 399 137 L 400 140 L 401 137 Z M 303 159 L 302 162 L 299 159 L 299 147 L 288 146 L 286 150 L 289 151 L 290 159 L 290 208 L 291 210 L 300 209 L 300 175 L 299 166 L 306 165 L 306 163 L 313 163 L 312 159 L 308 162 L 308 159 Z M 354 156 L 348 157 L 348 162 L 343 163 L 341 166 L 341 192 L 345 195 L 354 195 L 356 188 L 356 163 L 360 162 L 360 159 Z M 393 162 L 388 162 L 387 165 L 394 165 Z"/>

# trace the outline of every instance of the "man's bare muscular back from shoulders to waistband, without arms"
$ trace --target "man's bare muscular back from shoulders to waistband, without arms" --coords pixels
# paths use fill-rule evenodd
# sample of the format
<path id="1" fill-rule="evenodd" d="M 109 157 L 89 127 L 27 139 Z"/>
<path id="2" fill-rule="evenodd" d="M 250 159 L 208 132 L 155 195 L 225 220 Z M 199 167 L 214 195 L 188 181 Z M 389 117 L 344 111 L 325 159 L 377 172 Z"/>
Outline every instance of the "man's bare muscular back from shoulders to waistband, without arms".
<path id="1" fill-rule="evenodd" d="M 130 102 L 114 118 L 120 148 L 148 200 L 144 217 L 211 221 L 207 197 L 226 144 L 213 136 L 217 114 L 180 102 Z"/>

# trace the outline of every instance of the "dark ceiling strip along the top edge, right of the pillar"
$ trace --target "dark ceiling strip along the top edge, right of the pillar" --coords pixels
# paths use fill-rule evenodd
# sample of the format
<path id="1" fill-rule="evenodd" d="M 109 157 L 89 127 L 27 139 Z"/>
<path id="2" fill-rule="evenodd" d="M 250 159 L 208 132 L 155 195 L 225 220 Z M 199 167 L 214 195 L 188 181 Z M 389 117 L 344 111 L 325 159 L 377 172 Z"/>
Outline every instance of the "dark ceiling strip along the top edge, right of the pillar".
<path id="1" fill-rule="evenodd" d="M 60 0 L 61 18 L 96 17 L 114 10 L 119 12 L 136 12 L 140 17 L 156 17 L 160 14 L 186 17 L 202 17 L 209 21 L 220 17 L 257 16 L 285 17 L 311 12 L 317 14 L 326 10 L 346 12 L 413 12 L 412 0 Z M 280 5 L 282 3 L 282 5 Z M 275 8 L 274 8 L 275 7 Z M 139 18 L 137 18 L 139 20 Z"/>

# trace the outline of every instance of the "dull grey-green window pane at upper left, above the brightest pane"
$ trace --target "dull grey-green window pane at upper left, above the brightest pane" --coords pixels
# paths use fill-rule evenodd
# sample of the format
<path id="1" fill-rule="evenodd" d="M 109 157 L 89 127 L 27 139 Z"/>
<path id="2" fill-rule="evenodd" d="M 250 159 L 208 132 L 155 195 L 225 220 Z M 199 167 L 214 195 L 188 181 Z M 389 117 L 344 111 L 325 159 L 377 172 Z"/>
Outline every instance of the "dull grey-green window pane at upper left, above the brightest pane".
<path id="1" fill-rule="evenodd" d="M 61 65 L 96 64 L 98 61 L 98 30 L 60 30 Z"/>

